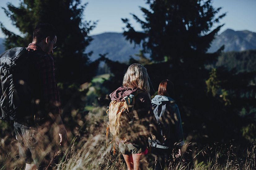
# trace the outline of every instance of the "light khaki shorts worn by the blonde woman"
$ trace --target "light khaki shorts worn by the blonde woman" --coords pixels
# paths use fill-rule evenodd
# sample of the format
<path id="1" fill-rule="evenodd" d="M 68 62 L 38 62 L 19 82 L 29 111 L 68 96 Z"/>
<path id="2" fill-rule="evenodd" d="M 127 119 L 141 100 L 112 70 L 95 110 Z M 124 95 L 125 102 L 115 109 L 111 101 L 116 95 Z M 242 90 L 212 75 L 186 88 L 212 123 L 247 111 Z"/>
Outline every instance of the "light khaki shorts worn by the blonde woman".
<path id="1" fill-rule="evenodd" d="M 130 155 L 130 154 L 146 155 L 148 153 L 146 146 L 137 145 L 134 143 L 119 143 L 119 151 L 125 155 Z"/>

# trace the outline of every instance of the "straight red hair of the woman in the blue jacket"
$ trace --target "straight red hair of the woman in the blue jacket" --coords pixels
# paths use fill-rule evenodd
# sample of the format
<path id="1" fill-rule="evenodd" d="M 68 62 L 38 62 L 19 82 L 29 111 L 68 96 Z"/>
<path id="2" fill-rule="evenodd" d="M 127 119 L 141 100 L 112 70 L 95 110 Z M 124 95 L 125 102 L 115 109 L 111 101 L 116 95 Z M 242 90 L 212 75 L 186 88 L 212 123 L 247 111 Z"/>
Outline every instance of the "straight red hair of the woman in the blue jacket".
<path id="1" fill-rule="evenodd" d="M 158 95 L 174 97 L 174 84 L 170 80 L 163 80 L 158 87 Z"/>

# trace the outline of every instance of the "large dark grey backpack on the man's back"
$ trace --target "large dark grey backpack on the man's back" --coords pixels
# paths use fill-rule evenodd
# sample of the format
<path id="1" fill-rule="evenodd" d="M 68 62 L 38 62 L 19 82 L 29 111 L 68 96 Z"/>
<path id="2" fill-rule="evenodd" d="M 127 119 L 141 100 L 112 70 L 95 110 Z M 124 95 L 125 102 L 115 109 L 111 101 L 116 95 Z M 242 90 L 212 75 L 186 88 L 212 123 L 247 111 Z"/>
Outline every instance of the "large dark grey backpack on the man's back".
<path id="1" fill-rule="evenodd" d="M 27 48 L 11 48 L 0 55 L 0 119 L 16 119 L 17 113 L 30 112 L 32 91 L 29 85 L 29 56 Z"/>

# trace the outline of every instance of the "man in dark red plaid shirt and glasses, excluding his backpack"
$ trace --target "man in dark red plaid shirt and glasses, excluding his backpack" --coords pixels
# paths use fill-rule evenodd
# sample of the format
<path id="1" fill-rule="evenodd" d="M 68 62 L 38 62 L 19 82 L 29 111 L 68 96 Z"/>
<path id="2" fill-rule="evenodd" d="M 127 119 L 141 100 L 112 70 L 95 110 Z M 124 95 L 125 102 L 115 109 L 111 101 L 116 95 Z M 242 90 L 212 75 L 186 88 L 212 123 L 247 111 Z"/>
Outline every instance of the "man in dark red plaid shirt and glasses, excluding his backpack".
<path id="1" fill-rule="evenodd" d="M 60 97 L 50 54 L 56 48 L 56 30 L 51 24 L 38 24 L 29 44 L 31 111 L 16 114 L 15 134 L 20 158 L 27 169 L 51 169 L 57 160 L 58 143 L 67 142 L 67 131 L 60 117 Z"/>

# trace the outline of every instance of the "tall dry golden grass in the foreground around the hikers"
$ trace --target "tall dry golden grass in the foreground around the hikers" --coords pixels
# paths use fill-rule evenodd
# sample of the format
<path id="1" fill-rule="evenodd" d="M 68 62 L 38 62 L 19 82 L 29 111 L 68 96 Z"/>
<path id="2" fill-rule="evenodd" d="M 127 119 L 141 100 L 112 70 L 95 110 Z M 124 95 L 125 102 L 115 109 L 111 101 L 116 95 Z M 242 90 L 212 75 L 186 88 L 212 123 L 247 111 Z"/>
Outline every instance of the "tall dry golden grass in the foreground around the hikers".
<path id="1" fill-rule="evenodd" d="M 106 147 L 106 108 L 98 107 L 87 115 L 79 115 L 83 120 L 73 131 L 69 131 L 70 144 L 61 148 L 63 153 L 57 170 L 123 170 L 125 161 L 116 146 L 113 154 L 113 145 L 110 143 L 112 135 L 108 138 Z M 79 113 L 77 113 L 79 114 Z M 188 136 L 182 148 L 183 155 L 171 158 L 167 170 L 252 170 L 256 169 L 256 144 L 236 147 L 239 145 L 213 143 L 199 148 L 196 143 L 190 142 Z M 6 136 L 0 141 L 0 170 L 20 169 L 24 166 L 18 157 L 18 145 L 13 136 Z M 243 149 L 246 148 L 246 149 Z M 144 159 L 146 169 L 153 169 L 154 155 L 149 154 Z"/>

